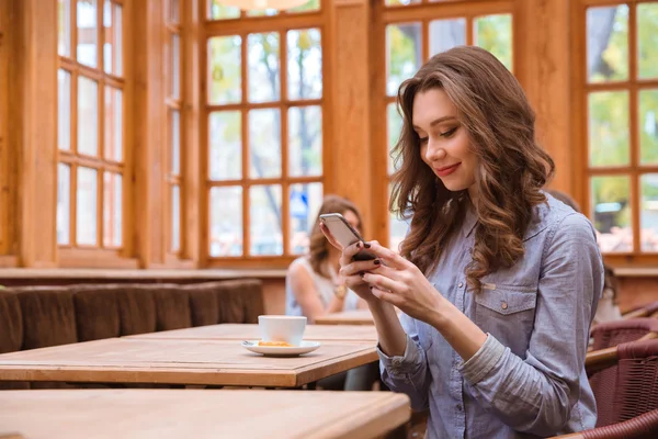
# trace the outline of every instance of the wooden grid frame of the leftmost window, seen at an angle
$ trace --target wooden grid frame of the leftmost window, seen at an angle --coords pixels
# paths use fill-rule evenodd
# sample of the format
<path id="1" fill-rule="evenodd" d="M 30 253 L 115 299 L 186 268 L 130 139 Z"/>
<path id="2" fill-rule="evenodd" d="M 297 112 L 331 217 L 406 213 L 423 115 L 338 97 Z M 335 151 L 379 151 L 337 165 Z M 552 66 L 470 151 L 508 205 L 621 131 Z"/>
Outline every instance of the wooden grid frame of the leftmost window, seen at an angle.
<path id="1" fill-rule="evenodd" d="M 60 149 L 57 145 L 57 166 L 64 164 L 70 169 L 69 192 L 69 243 L 58 244 L 59 267 L 102 267 L 102 268 L 137 268 L 137 260 L 129 258 L 131 249 L 128 237 L 132 233 L 128 221 L 132 180 L 132 155 L 128 148 L 128 104 L 129 87 L 128 77 L 131 67 L 127 53 L 126 36 L 129 34 L 128 26 L 131 1 L 111 0 L 112 4 L 122 7 L 122 76 L 109 74 L 104 69 L 105 26 L 103 25 L 103 12 L 105 0 L 97 0 L 97 67 L 89 67 L 77 60 L 78 49 L 78 24 L 77 3 L 70 0 L 70 55 L 69 57 L 58 55 L 57 70 L 65 70 L 70 75 L 70 148 Z M 91 79 L 98 85 L 98 154 L 88 156 L 78 153 L 78 81 L 80 76 Z M 122 160 L 116 161 L 104 157 L 105 153 L 105 87 L 118 89 L 122 92 Z M 77 171 L 79 167 L 90 168 L 97 171 L 97 244 L 77 244 Z M 113 172 L 122 177 L 122 232 L 121 246 L 105 245 L 104 235 L 104 173 Z"/>

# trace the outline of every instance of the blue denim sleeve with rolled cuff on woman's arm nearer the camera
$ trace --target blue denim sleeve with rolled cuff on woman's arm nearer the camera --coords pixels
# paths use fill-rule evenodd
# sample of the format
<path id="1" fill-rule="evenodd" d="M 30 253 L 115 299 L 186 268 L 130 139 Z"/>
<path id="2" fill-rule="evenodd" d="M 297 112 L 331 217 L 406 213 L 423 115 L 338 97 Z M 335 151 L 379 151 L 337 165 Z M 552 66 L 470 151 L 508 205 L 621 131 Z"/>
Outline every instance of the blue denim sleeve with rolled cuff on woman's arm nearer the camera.
<path id="1" fill-rule="evenodd" d="M 483 407 L 518 431 L 554 435 L 580 397 L 592 307 L 603 285 L 595 235 L 567 216 L 543 254 L 535 324 L 521 359 L 491 335 L 460 371 Z"/>

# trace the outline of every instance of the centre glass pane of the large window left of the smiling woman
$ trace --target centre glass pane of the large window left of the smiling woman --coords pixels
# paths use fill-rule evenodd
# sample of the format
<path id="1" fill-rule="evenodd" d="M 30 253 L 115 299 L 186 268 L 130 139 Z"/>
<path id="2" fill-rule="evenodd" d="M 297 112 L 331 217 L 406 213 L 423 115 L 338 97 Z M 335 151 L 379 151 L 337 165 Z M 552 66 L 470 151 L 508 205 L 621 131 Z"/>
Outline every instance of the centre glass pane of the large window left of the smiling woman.
<path id="1" fill-rule="evenodd" d="M 249 177 L 281 177 L 281 112 L 249 112 Z"/>

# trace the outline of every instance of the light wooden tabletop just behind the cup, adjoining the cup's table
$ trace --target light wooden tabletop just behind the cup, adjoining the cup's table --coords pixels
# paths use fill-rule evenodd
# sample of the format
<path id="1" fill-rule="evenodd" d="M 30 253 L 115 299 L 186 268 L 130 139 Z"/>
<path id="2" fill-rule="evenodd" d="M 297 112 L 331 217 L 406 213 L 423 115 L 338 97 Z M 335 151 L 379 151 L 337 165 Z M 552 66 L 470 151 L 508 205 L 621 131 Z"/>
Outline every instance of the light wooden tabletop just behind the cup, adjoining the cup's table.
<path id="1" fill-rule="evenodd" d="M 197 339 L 197 340 L 258 340 L 258 325 L 223 324 L 196 326 L 193 328 L 163 330 L 129 336 L 128 338 L 145 339 Z M 365 341 L 376 345 L 377 331 L 374 326 L 337 326 L 307 325 L 304 331 L 305 340 L 316 341 Z"/>

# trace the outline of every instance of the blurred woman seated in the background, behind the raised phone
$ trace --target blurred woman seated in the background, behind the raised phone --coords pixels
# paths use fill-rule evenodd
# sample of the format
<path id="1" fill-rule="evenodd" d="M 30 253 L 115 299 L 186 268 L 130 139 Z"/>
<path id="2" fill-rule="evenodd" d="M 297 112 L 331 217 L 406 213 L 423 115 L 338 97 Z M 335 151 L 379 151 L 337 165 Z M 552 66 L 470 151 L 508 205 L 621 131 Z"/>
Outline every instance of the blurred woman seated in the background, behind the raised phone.
<path id="1" fill-rule="evenodd" d="M 309 324 L 326 314 L 367 307 L 338 274 L 340 250 L 327 243 L 319 226 L 319 215 L 326 213 L 340 213 L 361 229 L 361 214 L 354 204 L 337 195 L 325 196 L 310 233 L 309 252 L 291 263 L 285 279 L 286 315 L 304 315 Z"/>

